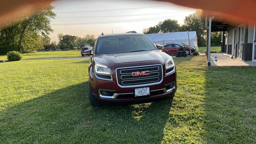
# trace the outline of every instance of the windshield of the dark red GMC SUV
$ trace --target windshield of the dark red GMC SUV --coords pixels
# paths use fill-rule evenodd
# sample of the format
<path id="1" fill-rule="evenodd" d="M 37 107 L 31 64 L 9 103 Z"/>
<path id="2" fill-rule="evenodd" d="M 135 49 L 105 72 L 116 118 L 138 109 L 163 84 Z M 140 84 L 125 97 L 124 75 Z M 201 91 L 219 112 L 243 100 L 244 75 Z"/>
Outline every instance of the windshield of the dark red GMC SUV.
<path id="1" fill-rule="evenodd" d="M 114 54 L 157 50 L 146 36 L 113 36 L 99 38 L 95 54 Z"/>

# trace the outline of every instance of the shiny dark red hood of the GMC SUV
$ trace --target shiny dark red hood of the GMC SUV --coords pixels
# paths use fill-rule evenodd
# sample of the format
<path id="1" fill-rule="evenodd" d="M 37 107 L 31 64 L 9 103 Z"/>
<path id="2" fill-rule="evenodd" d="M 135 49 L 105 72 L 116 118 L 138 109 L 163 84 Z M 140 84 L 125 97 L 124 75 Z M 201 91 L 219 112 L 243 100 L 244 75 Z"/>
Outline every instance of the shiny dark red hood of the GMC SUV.
<path id="1" fill-rule="evenodd" d="M 126 66 L 164 64 L 169 55 L 160 50 L 95 55 L 94 61 L 111 69 Z"/>

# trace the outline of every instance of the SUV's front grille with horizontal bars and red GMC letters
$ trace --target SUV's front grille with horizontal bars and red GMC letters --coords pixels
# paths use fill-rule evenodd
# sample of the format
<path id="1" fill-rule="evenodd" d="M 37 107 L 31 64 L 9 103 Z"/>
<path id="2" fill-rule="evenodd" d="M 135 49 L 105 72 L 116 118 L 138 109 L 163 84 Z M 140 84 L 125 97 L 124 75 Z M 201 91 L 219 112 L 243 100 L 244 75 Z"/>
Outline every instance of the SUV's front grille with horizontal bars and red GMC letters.
<path id="1" fill-rule="evenodd" d="M 138 72 L 138 76 L 132 73 Z M 142 73 L 146 72 L 147 75 Z M 162 82 L 162 65 L 133 66 L 116 69 L 116 77 L 120 87 L 146 86 Z"/>

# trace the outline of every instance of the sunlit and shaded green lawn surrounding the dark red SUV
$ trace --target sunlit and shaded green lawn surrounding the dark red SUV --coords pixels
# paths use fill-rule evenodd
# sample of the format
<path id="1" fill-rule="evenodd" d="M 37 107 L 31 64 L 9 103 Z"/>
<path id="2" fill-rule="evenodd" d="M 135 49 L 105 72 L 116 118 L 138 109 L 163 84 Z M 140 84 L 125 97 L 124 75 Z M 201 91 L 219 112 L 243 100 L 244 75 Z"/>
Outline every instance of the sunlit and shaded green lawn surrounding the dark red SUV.
<path id="1" fill-rule="evenodd" d="M 88 60 L 0 63 L 1 143 L 256 143 L 256 68 L 175 58 L 174 99 L 92 108 Z"/>

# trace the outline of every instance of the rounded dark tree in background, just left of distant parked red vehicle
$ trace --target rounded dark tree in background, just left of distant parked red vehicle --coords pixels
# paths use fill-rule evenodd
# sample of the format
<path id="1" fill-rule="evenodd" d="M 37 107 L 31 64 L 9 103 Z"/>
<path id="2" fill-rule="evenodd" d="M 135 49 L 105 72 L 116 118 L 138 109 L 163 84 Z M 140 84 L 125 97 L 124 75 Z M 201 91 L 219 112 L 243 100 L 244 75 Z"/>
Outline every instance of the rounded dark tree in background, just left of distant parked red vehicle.
<path id="1" fill-rule="evenodd" d="M 58 47 L 60 49 L 65 49 L 65 48 L 70 48 L 73 49 L 75 46 L 77 46 L 76 44 L 76 40 L 77 40 L 77 36 L 71 36 L 68 34 L 58 34 L 58 38 L 59 38 L 59 43 L 58 43 Z"/>

